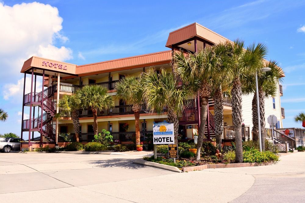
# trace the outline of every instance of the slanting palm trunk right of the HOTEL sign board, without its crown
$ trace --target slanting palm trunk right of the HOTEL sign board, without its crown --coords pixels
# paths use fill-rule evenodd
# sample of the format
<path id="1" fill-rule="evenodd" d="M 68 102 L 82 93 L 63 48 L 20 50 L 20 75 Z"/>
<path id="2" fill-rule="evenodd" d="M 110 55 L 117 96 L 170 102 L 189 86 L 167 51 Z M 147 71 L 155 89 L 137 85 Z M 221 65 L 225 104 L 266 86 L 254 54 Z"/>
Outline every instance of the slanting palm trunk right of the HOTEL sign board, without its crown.
<path id="1" fill-rule="evenodd" d="M 206 126 L 208 103 L 209 103 L 209 98 L 206 97 L 201 98 L 200 126 L 199 126 L 198 141 L 197 141 L 197 153 L 196 153 L 196 160 L 198 161 L 200 161 L 200 150 L 203 143 L 204 131 Z"/>

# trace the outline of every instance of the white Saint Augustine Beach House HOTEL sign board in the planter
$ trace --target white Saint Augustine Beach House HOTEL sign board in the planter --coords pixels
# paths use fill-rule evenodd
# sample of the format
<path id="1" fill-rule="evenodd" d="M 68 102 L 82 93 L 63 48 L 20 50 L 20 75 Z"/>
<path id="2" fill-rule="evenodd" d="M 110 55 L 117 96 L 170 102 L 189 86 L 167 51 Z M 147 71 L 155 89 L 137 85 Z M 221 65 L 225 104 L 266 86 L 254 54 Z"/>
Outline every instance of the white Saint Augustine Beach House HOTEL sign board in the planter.
<path id="1" fill-rule="evenodd" d="M 153 123 L 153 144 L 174 144 L 174 123 Z"/>

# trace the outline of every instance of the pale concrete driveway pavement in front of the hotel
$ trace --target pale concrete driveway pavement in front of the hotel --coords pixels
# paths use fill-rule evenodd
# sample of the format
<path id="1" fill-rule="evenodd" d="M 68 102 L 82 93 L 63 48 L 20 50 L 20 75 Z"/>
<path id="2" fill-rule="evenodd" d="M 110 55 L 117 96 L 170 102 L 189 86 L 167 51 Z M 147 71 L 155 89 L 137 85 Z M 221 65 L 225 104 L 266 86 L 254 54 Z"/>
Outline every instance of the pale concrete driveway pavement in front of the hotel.
<path id="1" fill-rule="evenodd" d="M 242 201 L 250 188 L 258 190 L 257 174 L 281 176 L 277 173 L 284 169 L 298 173 L 305 169 L 303 152 L 283 156 L 280 163 L 272 166 L 189 173 L 132 164 L 136 158 L 139 154 L 2 153 L 0 180 L 6 184 L 0 184 L 0 199 L 13 202 Z M 244 197 L 253 198 L 251 195 Z"/>

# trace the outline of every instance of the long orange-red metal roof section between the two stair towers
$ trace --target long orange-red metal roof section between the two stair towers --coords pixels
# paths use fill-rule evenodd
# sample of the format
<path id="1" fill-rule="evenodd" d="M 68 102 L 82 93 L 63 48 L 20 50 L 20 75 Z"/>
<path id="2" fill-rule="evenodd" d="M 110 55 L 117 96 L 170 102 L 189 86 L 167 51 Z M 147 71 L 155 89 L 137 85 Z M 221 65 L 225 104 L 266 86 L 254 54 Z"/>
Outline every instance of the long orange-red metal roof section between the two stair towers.
<path id="1" fill-rule="evenodd" d="M 171 51 L 156 52 L 145 55 L 132 56 L 98 63 L 76 66 L 76 74 L 92 72 L 107 72 L 109 70 L 130 69 L 135 67 L 153 66 L 156 63 L 168 63 L 171 60 Z"/>

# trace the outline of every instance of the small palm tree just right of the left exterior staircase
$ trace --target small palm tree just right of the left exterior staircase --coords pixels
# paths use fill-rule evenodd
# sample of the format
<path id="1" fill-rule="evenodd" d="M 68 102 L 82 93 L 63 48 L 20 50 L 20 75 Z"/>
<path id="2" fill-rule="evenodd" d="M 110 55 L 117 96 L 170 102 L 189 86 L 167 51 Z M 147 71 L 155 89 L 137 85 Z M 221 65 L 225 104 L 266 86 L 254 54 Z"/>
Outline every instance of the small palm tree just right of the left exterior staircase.
<path id="1" fill-rule="evenodd" d="M 76 141 L 79 142 L 79 117 L 78 109 L 81 109 L 81 105 L 77 102 L 77 94 L 64 95 L 58 102 L 59 108 L 62 111 L 56 117 L 64 117 L 70 115 L 73 120 L 73 128 L 75 132 Z"/>

